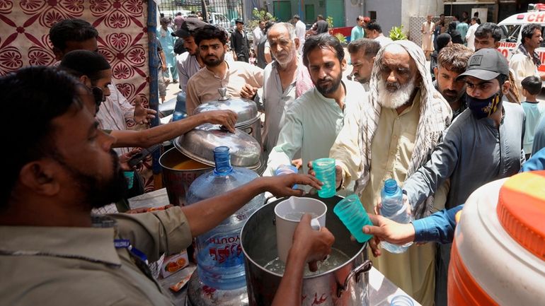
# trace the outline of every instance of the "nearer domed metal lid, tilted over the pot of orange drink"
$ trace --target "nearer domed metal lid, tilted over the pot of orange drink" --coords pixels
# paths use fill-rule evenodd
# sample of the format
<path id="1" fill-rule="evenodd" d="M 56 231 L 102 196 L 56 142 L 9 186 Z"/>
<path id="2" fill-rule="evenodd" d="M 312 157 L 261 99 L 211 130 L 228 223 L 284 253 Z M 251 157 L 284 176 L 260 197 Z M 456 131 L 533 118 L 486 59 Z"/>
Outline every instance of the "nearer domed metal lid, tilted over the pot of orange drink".
<path id="1" fill-rule="evenodd" d="M 214 166 L 214 148 L 228 146 L 231 165 L 257 170 L 261 167 L 261 146 L 252 136 L 236 129 L 231 133 L 216 124 L 202 124 L 174 141 L 178 151 L 205 165 Z"/>

